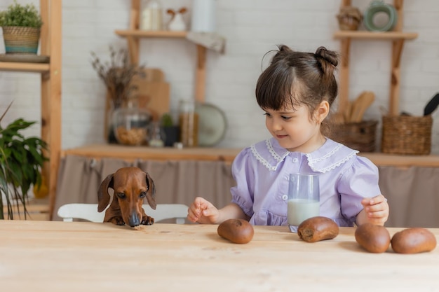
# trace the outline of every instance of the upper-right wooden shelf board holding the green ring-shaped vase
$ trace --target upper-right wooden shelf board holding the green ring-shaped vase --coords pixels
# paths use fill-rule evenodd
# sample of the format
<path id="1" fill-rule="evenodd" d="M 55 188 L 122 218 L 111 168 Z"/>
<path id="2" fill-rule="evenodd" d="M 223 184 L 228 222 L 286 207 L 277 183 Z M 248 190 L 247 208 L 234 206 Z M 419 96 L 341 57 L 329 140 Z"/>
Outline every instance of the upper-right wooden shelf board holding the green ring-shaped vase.
<path id="1" fill-rule="evenodd" d="M 415 32 L 362 32 L 341 30 L 334 33 L 334 39 L 365 39 L 365 40 L 412 40 L 418 34 Z"/>

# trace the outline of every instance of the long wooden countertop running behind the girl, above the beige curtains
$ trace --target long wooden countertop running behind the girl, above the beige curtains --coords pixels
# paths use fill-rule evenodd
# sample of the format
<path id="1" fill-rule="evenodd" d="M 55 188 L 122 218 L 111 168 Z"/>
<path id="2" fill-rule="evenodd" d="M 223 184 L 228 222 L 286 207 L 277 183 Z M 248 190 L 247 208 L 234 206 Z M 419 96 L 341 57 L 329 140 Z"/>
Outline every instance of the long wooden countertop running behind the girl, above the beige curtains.
<path id="1" fill-rule="evenodd" d="M 241 148 L 150 148 L 147 146 L 122 146 L 116 144 L 89 145 L 67 149 L 61 156 L 79 155 L 88 158 L 115 158 L 127 161 L 142 160 L 206 160 L 233 162 Z M 395 155 L 386 153 L 360 153 L 377 166 L 439 167 L 438 155 Z"/>

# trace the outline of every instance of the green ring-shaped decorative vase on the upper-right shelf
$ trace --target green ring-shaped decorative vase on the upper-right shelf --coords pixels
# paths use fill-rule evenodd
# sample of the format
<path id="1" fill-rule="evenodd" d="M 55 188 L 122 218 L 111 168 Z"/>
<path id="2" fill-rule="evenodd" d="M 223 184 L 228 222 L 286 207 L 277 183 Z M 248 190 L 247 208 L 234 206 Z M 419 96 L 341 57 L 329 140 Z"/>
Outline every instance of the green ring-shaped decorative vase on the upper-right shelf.
<path id="1" fill-rule="evenodd" d="M 377 25 L 374 22 L 374 18 L 377 13 L 386 13 L 389 17 L 389 21 L 384 25 Z M 398 22 L 398 13 L 395 7 L 391 4 L 386 4 L 384 1 L 372 1 L 370 6 L 366 9 L 364 15 L 365 28 L 370 32 L 390 32 Z"/>

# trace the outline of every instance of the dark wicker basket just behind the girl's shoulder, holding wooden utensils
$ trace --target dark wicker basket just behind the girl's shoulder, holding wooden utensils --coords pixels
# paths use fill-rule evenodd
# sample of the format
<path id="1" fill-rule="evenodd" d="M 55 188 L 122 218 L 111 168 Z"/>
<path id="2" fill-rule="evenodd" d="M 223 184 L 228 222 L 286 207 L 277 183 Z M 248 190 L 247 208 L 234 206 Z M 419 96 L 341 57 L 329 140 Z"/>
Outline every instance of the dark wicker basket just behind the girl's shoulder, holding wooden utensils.
<path id="1" fill-rule="evenodd" d="M 360 152 L 374 152 L 377 132 L 376 120 L 332 125 L 329 137 Z"/>

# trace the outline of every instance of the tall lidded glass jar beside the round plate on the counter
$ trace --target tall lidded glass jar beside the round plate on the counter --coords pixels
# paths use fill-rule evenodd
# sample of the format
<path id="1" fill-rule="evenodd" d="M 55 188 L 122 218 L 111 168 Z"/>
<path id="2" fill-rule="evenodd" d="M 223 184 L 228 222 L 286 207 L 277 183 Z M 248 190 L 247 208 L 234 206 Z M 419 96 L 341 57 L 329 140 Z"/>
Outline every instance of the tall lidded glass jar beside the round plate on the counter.
<path id="1" fill-rule="evenodd" d="M 179 125 L 180 141 L 184 147 L 198 146 L 198 113 L 193 100 L 180 101 Z"/>

